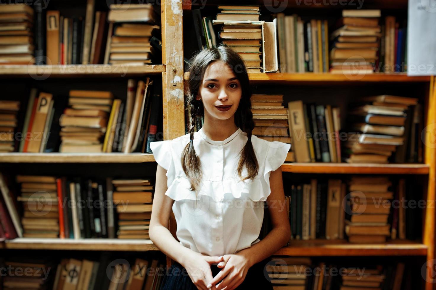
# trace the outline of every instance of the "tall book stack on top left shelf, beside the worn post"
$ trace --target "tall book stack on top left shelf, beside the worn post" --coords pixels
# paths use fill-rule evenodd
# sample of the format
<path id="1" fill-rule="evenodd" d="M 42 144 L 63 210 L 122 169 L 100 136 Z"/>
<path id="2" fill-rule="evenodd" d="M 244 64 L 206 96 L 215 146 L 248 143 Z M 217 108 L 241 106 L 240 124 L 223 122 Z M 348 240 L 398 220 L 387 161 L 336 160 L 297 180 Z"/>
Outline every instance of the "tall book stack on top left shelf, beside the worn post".
<path id="1" fill-rule="evenodd" d="M 105 64 L 150 64 L 155 54 L 150 38 L 159 19 L 152 4 L 111 4 Z"/>

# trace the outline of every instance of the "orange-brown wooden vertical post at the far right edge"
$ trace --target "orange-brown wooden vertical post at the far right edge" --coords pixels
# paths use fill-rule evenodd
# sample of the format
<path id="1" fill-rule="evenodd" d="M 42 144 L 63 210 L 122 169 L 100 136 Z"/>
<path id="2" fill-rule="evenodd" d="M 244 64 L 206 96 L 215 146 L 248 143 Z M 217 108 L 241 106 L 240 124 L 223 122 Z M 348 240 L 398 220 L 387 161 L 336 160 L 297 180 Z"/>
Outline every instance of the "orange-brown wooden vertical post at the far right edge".
<path id="1" fill-rule="evenodd" d="M 425 212 L 425 230 L 423 233 L 423 243 L 427 246 L 426 259 L 426 290 L 432 290 L 434 287 L 433 270 L 435 258 L 435 208 L 433 202 L 435 200 L 436 186 L 436 89 L 435 77 L 430 78 L 430 89 L 427 102 L 427 122 L 425 132 L 425 163 L 429 165 L 429 182 L 427 188 L 427 203 Z"/>

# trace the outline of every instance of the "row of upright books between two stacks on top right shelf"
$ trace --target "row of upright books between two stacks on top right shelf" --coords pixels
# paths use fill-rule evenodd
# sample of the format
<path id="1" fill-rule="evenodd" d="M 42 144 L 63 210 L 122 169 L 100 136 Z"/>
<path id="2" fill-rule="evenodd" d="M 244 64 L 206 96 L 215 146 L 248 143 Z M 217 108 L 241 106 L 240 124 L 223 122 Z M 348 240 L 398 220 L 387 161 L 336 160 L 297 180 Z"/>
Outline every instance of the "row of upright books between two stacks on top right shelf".
<path id="1" fill-rule="evenodd" d="M 280 72 L 328 72 L 328 22 L 277 14 Z"/>

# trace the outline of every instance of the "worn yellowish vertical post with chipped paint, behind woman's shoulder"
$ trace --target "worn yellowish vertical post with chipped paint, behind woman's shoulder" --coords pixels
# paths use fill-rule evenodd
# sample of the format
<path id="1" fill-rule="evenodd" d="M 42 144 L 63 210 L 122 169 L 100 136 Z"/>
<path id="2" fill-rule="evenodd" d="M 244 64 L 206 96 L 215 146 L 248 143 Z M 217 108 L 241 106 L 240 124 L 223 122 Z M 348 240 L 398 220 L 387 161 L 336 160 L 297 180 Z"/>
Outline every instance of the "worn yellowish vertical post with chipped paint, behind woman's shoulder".
<path id="1" fill-rule="evenodd" d="M 164 140 L 185 134 L 182 0 L 162 0 Z"/>

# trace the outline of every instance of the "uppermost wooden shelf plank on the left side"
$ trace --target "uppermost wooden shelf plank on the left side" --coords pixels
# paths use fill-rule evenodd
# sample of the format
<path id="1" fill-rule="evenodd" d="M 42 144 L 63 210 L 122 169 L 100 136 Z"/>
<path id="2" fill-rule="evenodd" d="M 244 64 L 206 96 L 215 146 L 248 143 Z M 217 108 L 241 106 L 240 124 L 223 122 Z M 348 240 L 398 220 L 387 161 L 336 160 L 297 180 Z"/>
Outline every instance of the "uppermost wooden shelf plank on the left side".
<path id="1" fill-rule="evenodd" d="M 0 77 L 119 77 L 161 74 L 165 65 L 0 65 Z"/>

